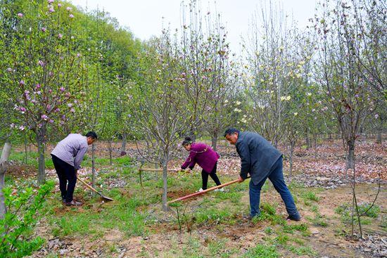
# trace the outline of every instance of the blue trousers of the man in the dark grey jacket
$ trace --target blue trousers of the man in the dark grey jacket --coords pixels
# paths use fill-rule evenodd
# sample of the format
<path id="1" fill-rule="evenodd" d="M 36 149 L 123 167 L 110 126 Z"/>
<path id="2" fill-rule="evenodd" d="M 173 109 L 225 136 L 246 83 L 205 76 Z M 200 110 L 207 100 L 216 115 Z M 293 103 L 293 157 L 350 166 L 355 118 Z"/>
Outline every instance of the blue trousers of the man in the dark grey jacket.
<path id="1" fill-rule="evenodd" d="M 282 200 L 285 203 L 286 211 L 288 212 L 290 217 L 299 218 L 300 214 L 298 214 L 296 204 L 294 203 L 293 196 L 289 191 L 286 183 L 284 181 L 284 174 L 282 172 L 282 157 L 274 163 L 272 170 L 269 172 L 267 176 L 270 181 L 272 181 L 275 190 L 281 195 Z M 260 190 L 262 186 L 265 184 L 267 179 L 262 179 L 260 183 L 254 185 L 253 181 L 250 180 L 249 184 L 249 194 L 250 194 L 250 217 L 253 218 L 260 214 Z"/>

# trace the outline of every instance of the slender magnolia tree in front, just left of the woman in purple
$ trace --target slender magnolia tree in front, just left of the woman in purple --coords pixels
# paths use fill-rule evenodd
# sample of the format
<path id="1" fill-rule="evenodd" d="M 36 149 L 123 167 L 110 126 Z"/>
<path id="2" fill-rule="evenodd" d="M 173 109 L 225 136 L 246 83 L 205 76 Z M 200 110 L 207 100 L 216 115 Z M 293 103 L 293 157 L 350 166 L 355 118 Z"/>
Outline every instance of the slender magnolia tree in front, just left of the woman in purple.
<path id="1" fill-rule="evenodd" d="M 176 45 L 168 32 L 154 39 L 141 58 L 144 81 L 137 85 L 137 131 L 140 153 L 163 168 L 163 209 L 167 210 L 167 165 L 187 128 L 189 109 L 184 98 L 184 75 L 179 71 Z"/>

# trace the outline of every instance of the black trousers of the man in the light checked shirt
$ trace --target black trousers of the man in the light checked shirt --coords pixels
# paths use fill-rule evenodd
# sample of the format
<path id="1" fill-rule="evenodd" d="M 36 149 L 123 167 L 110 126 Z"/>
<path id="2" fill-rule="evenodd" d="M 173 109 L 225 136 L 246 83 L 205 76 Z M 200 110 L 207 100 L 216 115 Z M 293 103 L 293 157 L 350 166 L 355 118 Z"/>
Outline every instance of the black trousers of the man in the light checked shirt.
<path id="1" fill-rule="evenodd" d="M 61 190 L 62 199 L 66 202 L 71 202 L 75 184 L 77 183 L 75 168 L 55 155 L 51 156 L 56 174 L 58 174 L 59 189 Z"/>

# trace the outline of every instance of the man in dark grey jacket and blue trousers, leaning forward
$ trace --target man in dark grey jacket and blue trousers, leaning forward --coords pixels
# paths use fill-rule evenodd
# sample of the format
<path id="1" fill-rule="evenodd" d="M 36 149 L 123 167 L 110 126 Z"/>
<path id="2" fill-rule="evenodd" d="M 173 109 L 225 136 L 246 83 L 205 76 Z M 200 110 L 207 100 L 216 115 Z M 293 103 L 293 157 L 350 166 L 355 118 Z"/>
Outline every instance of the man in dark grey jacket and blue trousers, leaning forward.
<path id="1" fill-rule="evenodd" d="M 241 173 L 239 181 L 244 181 L 248 174 L 251 176 L 249 184 L 250 218 L 260 214 L 260 191 L 267 178 L 272 181 L 274 188 L 284 200 L 288 219 L 299 221 L 293 196 L 284 181 L 282 172 L 282 153 L 259 134 L 230 128 L 224 133 L 229 143 L 236 146 L 241 157 Z"/>

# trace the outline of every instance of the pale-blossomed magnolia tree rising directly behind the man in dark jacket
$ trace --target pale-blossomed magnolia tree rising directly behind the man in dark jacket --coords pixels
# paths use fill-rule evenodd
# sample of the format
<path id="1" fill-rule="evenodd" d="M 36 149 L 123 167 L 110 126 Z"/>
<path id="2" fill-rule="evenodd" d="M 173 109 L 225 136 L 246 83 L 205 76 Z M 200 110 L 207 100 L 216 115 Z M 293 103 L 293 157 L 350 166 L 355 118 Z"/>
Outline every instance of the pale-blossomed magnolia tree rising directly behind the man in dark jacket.
<path id="1" fill-rule="evenodd" d="M 243 51 L 243 84 L 252 108 L 249 126 L 277 146 L 284 136 L 283 120 L 292 89 L 303 77 L 307 60 L 293 53 L 296 32 L 286 26 L 281 11 L 270 3 L 255 13 Z M 262 25 L 262 26 L 261 26 Z"/>

